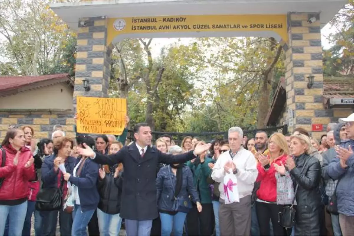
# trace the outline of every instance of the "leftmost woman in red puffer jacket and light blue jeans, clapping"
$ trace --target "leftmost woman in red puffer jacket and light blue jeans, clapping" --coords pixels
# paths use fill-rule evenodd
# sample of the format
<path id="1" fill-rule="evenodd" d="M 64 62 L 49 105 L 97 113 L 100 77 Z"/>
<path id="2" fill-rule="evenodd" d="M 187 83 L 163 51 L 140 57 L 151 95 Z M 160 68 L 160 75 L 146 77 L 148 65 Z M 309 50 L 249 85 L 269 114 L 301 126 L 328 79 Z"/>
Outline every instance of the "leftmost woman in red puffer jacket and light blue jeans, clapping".
<path id="1" fill-rule="evenodd" d="M 27 212 L 28 181 L 35 178 L 34 159 L 25 147 L 21 129 L 7 131 L 1 145 L 5 156 L 0 151 L 0 163 L 5 159 L 5 166 L 0 167 L 0 235 L 4 234 L 8 217 L 9 235 L 21 236 Z"/>

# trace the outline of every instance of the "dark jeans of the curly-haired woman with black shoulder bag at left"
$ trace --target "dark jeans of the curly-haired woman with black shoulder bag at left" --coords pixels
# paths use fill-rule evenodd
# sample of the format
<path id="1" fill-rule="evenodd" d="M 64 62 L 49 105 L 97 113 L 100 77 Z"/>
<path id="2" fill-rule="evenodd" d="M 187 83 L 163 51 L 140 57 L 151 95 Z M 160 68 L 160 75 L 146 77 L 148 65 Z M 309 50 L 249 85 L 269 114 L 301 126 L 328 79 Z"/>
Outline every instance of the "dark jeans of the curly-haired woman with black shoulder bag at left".
<path id="1" fill-rule="evenodd" d="M 42 217 L 41 235 L 39 236 L 55 236 L 57 230 L 59 213 L 59 226 L 60 234 L 62 236 L 71 236 L 71 228 L 73 225 L 72 214 L 66 213 L 63 209 L 57 211 L 42 211 L 40 215 Z M 37 235 L 36 235 L 37 236 Z"/>

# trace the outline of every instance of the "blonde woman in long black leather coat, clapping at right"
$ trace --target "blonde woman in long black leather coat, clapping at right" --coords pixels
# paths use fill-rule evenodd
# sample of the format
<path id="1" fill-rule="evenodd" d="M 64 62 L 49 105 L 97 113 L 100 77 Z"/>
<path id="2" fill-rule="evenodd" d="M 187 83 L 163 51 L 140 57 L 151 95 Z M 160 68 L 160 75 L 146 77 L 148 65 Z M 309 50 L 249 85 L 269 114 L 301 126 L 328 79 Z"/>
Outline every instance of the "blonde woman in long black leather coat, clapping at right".
<path id="1" fill-rule="evenodd" d="M 285 167 L 276 167 L 280 174 L 285 174 L 286 169 L 290 172 L 294 188 L 298 183 L 295 236 L 320 235 L 321 165 L 316 157 L 309 155 L 312 149 L 309 137 L 303 134 L 291 136 L 290 151 L 294 158 L 288 158 Z"/>

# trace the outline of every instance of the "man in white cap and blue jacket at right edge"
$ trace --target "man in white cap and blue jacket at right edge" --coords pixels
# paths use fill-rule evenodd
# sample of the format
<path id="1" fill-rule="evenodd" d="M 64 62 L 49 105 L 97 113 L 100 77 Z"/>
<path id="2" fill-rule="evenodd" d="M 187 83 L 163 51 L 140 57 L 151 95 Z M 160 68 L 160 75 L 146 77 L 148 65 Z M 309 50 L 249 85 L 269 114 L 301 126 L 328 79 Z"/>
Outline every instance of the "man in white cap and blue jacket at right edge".
<path id="1" fill-rule="evenodd" d="M 339 122 L 346 123 L 350 141 L 344 148 L 335 146 L 337 157 L 329 164 L 327 173 L 333 180 L 338 180 L 339 224 L 343 236 L 347 236 L 354 235 L 354 113 L 339 119 Z"/>

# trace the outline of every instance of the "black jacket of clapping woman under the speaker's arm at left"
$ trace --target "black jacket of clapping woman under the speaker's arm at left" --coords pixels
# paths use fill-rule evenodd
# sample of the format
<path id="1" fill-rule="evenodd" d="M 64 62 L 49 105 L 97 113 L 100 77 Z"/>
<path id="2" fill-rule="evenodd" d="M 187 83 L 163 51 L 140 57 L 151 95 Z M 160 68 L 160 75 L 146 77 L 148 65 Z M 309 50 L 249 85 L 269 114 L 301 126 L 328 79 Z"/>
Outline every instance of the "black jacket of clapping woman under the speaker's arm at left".
<path id="1" fill-rule="evenodd" d="M 99 203 L 98 208 L 108 214 L 120 212 L 120 200 L 122 195 L 123 174 L 114 178 L 114 172 L 118 165 L 110 166 L 110 173 L 106 173 L 104 179 L 98 178 Z"/>

